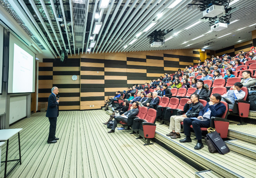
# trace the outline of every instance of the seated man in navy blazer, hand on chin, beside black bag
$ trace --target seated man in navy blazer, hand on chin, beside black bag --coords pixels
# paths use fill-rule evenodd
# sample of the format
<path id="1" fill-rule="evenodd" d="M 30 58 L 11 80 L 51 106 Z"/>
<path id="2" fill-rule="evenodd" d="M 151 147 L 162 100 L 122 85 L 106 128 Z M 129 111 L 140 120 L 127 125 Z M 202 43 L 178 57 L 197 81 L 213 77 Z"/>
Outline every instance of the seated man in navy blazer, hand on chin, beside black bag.
<path id="1" fill-rule="evenodd" d="M 223 103 L 220 103 L 221 99 L 222 97 L 220 94 L 218 93 L 213 94 L 210 97 L 210 102 L 207 103 L 204 109 L 202 109 L 199 112 L 199 115 L 197 118 L 205 119 L 206 121 L 199 121 L 191 118 L 185 118 L 183 120 L 184 132 L 185 132 L 186 138 L 180 140 L 181 143 L 192 142 L 190 138 L 190 135 L 191 135 L 190 125 L 192 125 L 197 138 L 197 145 L 194 147 L 194 149 L 200 150 L 204 147 L 202 143 L 202 133 L 201 133 L 200 127 L 209 128 L 211 123 L 211 117 L 221 117 L 224 114 L 224 112 L 226 111 L 226 107 Z"/>

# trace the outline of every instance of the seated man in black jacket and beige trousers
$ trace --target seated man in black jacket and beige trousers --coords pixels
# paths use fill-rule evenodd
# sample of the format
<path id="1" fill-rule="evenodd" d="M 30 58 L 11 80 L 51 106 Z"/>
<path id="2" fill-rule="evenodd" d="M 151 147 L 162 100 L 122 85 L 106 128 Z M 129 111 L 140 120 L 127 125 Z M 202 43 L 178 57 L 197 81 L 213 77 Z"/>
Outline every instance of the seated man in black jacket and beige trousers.
<path id="1" fill-rule="evenodd" d="M 192 113 L 199 113 L 203 108 L 203 104 L 199 102 L 199 95 L 193 94 L 190 97 L 190 100 L 184 105 L 183 110 L 186 113 L 181 116 L 172 116 L 170 118 L 169 129 L 172 130 L 172 132 L 166 134 L 166 136 L 171 136 L 173 139 L 180 138 L 180 123 L 183 122 L 185 118 L 192 117 Z"/>

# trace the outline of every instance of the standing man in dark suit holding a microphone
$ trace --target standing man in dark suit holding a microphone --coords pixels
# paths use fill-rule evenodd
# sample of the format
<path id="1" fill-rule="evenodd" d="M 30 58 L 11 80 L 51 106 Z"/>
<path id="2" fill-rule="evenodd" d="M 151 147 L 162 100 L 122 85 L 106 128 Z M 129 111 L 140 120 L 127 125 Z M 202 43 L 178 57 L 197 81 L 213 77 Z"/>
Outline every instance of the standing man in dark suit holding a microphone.
<path id="1" fill-rule="evenodd" d="M 59 100 L 56 99 L 58 93 L 59 89 L 57 87 L 52 87 L 52 93 L 48 98 L 46 117 L 49 118 L 50 129 L 47 143 L 57 143 L 57 140 L 59 139 L 55 137 L 57 117 L 59 116 Z"/>

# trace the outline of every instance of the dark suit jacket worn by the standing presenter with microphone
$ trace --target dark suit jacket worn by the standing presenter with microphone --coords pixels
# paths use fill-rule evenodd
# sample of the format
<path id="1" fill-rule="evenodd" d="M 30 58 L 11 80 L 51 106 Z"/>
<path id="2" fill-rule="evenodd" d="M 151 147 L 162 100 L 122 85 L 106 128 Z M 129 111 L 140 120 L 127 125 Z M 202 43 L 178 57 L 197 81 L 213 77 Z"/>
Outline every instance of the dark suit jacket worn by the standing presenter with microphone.
<path id="1" fill-rule="evenodd" d="M 46 117 L 58 117 L 59 116 L 59 103 L 55 95 L 51 94 L 48 98 L 48 107 L 46 111 Z"/>

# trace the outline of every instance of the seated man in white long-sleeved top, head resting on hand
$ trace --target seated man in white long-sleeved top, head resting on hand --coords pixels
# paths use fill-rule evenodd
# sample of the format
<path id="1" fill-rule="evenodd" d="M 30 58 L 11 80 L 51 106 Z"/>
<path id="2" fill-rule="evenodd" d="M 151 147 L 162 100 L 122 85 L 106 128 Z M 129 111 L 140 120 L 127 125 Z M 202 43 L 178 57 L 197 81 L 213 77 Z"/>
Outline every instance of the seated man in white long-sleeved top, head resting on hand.
<path id="1" fill-rule="evenodd" d="M 225 98 L 228 98 L 230 102 L 226 102 L 229 104 L 229 109 L 233 109 L 235 100 L 242 100 L 245 97 L 245 92 L 241 90 L 243 87 L 243 84 L 240 82 L 236 82 L 233 85 L 233 90 L 228 90 L 228 92 L 224 95 L 222 95 L 221 101 L 226 102 Z"/>

